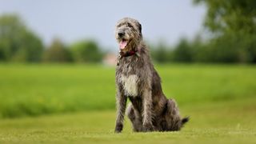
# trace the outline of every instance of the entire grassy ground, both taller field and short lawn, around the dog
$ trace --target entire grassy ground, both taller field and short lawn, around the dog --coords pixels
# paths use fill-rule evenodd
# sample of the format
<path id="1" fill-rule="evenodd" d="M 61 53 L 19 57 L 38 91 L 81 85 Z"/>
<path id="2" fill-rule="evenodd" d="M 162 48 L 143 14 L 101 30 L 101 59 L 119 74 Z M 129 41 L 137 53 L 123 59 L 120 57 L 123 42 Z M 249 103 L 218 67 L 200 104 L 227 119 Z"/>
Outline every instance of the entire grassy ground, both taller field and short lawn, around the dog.
<path id="1" fill-rule="evenodd" d="M 190 122 L 114 134 L 114 67 L 0 65 L 0 143 L 255 143 L 256 66 L 156 66 Z"/>

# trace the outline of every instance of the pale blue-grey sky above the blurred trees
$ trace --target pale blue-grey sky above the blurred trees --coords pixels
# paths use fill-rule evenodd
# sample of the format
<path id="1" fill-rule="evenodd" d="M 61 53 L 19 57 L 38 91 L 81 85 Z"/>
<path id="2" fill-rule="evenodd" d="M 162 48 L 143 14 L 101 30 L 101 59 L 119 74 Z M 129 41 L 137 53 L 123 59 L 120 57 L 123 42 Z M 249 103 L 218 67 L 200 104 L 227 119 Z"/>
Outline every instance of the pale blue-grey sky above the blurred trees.
<path id="1" fill-rule="evenodd" d="M 91 38 L 109 50 L 118 49 L 114 26 L 123 17 L 141 22 L 146 41 L 174 44 L 202 30 L 205 12 L 192 0 L 0 0 L 0 14 L 19 14 L 46 45 Z"/>

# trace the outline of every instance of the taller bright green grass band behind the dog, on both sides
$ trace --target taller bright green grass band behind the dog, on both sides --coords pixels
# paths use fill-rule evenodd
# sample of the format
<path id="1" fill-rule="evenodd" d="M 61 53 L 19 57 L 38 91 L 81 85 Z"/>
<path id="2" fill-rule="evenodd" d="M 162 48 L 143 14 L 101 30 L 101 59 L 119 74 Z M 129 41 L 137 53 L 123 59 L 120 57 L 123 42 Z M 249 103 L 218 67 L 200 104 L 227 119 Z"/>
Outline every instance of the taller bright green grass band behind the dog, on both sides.
<path id="1" fill-rule="evenodd" d="M 179 105 L 256 97 L 255 66 L 156 66 Z M 0 64 L 0 118 L 114 110 L 114 67 Z"/>

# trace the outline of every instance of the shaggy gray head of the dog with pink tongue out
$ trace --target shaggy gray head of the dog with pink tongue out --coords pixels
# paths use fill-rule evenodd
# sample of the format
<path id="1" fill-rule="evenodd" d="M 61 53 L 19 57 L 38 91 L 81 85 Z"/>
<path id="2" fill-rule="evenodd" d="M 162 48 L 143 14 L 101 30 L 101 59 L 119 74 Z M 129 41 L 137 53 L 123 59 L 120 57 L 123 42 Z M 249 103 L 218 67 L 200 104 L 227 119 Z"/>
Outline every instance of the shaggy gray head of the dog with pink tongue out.
<path id="1" fill-rule="evenodd" d="M 142 25 L 134 18 L 122 18 L 116 25 L 115 38 L 121 51 L 130 51 L 142 40 Z"/>

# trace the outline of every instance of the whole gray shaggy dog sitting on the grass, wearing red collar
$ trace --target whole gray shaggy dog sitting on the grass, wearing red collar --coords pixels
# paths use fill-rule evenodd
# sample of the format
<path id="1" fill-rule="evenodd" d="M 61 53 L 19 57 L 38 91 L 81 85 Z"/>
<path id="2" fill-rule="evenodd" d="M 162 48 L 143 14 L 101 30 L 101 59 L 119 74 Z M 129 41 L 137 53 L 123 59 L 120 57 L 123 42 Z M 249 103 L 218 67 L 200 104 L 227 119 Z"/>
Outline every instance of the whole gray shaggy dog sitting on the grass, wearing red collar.
<path id="1" fill-rule="evenodd" d="M 163 94 L 161 79 L 142 41 L 141 24 L 133 18 L 122 18 L 116 25 L 115 37 L 120 49 L 115 132 L 122 131 L 125 111 L 135 132 L 180 130 L 189 118 L 181 118 L 174 99 Z M 126 110 L 127 98 L 131 104 Z"/>

